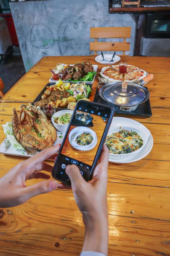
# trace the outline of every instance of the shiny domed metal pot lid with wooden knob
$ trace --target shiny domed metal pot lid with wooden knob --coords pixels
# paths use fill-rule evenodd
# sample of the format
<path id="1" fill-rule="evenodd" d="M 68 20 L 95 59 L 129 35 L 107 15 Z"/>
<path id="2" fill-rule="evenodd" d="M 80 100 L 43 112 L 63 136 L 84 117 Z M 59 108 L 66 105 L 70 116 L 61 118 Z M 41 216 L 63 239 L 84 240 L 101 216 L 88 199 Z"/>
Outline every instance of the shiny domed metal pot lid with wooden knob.
<path id="1" fill-rule="evenodd" d="M 149 98 L 148 90 L 138 84 L 114 82 L 103 85 L 99 90 L 99 95 L 104 100 L 115 105 L 135 106 L 145 102 Z"/>

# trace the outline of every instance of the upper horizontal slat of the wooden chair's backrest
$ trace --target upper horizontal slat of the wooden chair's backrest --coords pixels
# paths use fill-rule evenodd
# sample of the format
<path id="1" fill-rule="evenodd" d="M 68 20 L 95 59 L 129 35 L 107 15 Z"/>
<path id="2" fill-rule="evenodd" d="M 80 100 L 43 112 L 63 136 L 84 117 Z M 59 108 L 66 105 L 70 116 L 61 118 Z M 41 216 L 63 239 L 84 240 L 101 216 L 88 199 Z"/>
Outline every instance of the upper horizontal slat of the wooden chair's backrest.
<path id="1" fill-rule="evenodd" d="M 91 27 L 90 38 L 130 38 L 131 27 Z"/>

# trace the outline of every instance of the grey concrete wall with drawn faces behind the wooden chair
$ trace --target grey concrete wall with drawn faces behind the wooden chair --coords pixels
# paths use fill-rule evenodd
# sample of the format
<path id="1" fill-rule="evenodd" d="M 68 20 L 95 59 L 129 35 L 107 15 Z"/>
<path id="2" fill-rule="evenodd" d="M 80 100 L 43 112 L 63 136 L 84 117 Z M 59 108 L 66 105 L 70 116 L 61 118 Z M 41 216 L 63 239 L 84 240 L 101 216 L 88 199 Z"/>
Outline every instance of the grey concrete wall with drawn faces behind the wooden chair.
<path id="1" fill-rule="evenodd" d="M 26 71 L 43 56 L 94 54 L 90 27 L 131 27 L 126 54 L 134 53 L 136 23 L 129 14 L 109 14 L 108 0 L 11 2 L 10 8 Z"/>

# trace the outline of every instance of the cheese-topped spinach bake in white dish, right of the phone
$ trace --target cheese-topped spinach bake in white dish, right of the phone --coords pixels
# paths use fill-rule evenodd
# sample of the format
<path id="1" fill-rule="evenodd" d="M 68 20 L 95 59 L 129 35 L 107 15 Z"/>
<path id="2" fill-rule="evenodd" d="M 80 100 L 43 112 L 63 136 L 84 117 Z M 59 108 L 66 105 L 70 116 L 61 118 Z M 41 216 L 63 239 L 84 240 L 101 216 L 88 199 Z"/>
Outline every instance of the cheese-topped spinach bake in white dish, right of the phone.
<path id="1" fill-rule="evenodd" d="M 123 129 L 108 135 L 105 144 L 112 154 L 127 154 L 142 147 L 143 139 L 137 132 Z"/>

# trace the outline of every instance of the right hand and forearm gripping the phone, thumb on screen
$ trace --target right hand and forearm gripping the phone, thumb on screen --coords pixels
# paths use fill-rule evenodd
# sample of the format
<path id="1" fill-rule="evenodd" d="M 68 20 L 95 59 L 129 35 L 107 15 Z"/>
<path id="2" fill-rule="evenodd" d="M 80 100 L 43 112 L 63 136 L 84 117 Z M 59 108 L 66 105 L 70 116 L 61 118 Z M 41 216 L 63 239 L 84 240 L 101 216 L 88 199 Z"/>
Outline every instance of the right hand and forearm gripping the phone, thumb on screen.
<path id="1" fill-rule="evenodd" d="M 109 150 L 103 150 L 96 165 L 93 178 L 86 182 L 76 165 L 68 165 L 66 173 L 71 180 L 71 188 L 77 206 L 83 215 L 86 228 L 82 251 L 95 251 L 107 255 L 108 250 L 108 208 L 107 208 L 107 168 Z M 58 184 L 60 189 L 70 189 Z"/>

